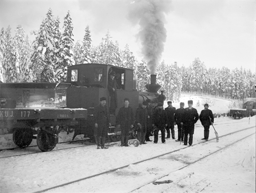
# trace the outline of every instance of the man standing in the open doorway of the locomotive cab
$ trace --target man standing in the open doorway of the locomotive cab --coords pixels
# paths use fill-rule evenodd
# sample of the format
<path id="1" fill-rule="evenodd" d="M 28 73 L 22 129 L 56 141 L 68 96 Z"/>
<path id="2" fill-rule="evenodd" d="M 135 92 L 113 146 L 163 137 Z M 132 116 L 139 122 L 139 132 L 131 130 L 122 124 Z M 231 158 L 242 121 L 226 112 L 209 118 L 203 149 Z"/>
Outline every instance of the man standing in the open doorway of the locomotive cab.
<path id="1" fill-rule="evenodd" d="M 110 107 L 109 107 L 109 111 L 111 114 L 115 114 L 115 109 L 117 108 L 117 95 L 116 95 L 116 80 L 114 79 L 115 77 L 115 72 L 112 71 L 109 74 L 109 78 L 108 78 L 108 84 L 107 84 L 107 88 L 109 91 L 109 96 L 110 96 Z"/>

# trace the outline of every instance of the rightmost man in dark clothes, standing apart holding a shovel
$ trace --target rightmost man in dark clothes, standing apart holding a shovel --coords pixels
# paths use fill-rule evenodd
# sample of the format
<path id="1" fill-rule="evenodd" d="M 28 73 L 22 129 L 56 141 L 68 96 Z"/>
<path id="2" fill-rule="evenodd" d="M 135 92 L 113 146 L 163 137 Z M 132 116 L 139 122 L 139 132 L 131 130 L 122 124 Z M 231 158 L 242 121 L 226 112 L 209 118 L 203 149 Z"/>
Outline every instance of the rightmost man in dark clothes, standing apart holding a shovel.
<path id="1" fill-rule="evenodd" d="M 214 122 L 214 117 L 212 114 L 212 111 L 209 108 L 208 104 L 204 105 L 204 110 L 201 111 L 200 115 L 199 115 L 199 119 L 200 122 L 202 123 L 203 127 L 204 127 L 204 138 L 202 140 L 207 140 L 209 138 L 209 128 L 211 123 Z M 210 117 L 210 119 L 209 119 Z"/>

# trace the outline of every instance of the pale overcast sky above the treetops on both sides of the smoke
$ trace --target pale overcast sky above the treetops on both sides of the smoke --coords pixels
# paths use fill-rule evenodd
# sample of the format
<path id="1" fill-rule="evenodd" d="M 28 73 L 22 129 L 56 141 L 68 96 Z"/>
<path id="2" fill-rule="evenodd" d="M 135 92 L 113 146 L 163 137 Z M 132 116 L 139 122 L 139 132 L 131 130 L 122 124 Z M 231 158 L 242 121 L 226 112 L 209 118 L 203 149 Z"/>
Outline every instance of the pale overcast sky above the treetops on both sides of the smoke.
<path id="1" fill-rule="evenodd" d="M 89 25 L 94 45 L 109 30 L 123 49 L 128 44 L 140 60 L 138 25 L 128 19 L 134 0 L 0 0 L 0 28 L 21 24 L 28 35 L 38 30 L 49 8 L 63 19 L 70 11 L 75 41 L 82 40 Z M 133 4 L 136 3 L 133 2 Z M 171 0 L 166 15 L 167 39 L 162 60 L 189 66 L 195 58 L 207 68 L 256 69 L 256 0 Z M 30 39 L 35 37 L 30 35 Z"/>

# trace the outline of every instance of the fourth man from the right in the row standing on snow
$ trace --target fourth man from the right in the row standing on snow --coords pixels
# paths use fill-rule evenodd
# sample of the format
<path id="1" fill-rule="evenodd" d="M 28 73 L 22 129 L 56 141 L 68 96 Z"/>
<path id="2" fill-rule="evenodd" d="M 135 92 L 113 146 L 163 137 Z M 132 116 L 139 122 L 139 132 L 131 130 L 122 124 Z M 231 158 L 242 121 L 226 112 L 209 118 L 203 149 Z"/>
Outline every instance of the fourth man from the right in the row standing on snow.
<path id="1" fill-rule="evenodd" d="M 168 124 L 168 126 L 166 127 L 166 132 L 167 132 L 166 138 L 171 137 L 173 140 L 175 140 L 174 114 L 175 114 L 176 108 L 172 106 L 171 101 L 168 101 L 167 104 L 168 104 L 168 107 L 164 109 L 167 114 L 167 124 Z M 170 136 L 170 129 L 171 129 L 171 136 Z"/>

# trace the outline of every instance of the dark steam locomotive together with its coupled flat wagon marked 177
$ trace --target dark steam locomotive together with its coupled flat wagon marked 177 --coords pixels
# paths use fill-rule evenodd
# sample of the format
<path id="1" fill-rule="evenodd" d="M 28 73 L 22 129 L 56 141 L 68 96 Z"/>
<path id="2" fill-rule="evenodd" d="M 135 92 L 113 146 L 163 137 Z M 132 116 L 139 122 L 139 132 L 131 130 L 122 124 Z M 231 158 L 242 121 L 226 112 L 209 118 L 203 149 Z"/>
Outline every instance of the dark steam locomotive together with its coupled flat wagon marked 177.
<path id="1" fill-rule="evenodd" d="M 156 75 L 151 75 L 151 83 L 146 85 L 148 92 L 136 90 L 133 70 L 107 64 L 77 64 L 67 68 L 67 81 L 57 83 L 0 83 L 0 149 L 3 140 L 12 136 L 15 145 L 28 147 L 33 139 L 37 140 L 41 151 L 54 149 L 59 142 L 59 133 L 74 132 L 93 139 L 94 107 L 102 96 L 110 96 L 107 89 L 109 73 L 118 74 L 116 81 L 117 109 L 110 115 L 111 127 L 108 138 L 120 140 L 121 129 L 116 128 L 116 116 L 123 106 L 123 99 L 130 99 L 134 114 L 143 101 L 151 99 L 157 105 L 160 85 Z M 134 137 L 134 131 L 130 131 Z"/>

